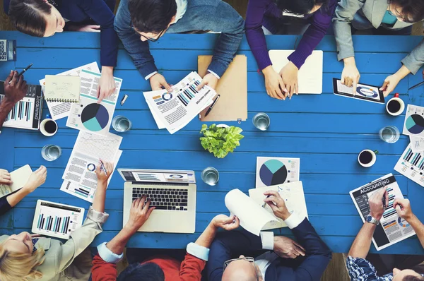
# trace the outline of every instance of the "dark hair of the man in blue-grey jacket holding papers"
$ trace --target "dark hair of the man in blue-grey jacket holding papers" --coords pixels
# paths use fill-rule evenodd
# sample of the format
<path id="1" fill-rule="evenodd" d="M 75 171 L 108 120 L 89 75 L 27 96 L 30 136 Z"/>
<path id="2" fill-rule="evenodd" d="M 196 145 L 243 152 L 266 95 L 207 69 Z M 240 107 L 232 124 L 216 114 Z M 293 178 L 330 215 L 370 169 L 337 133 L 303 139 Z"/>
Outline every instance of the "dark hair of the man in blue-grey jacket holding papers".
<path id="1" fill-rule="evenodd" d="M 159 33 L 170 24 L 177 13 L 175 0 L 129 0 L 129 14 L 139 32 Z"/>

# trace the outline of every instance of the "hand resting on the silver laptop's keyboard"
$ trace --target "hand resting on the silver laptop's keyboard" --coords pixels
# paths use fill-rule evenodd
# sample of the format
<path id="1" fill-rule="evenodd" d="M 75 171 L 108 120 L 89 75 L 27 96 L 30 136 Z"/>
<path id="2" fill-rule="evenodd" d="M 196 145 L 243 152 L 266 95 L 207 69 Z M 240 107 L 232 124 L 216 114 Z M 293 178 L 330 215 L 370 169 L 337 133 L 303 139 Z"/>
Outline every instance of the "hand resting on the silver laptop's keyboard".
<path id="1" fill-rule="evenodd" d="M 150 199 L 147 202 L 146 199 L 146 196 L 137 198 L 133 201 L 131 209 L 129 209 L 129 220 L 126 222 L 125 227 L 128 227 L 131 232 L 135 233 L 139 230 L 147 222 L 153 210 L 155 210 L 155 207 L 150 207 Z"/>

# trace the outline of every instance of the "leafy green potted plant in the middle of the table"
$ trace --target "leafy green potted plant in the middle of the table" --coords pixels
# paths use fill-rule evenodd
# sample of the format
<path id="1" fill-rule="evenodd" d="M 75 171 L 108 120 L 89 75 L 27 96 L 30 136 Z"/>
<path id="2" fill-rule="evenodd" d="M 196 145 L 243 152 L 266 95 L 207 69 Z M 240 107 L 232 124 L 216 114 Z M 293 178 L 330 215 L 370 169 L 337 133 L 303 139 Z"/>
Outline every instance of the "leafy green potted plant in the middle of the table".
<path id="1" fill-rule="evenodd" d="M 212 124 L 208 128 L 204 124 L 201 126 L 200 131 L 200 133 L 204 134 L 200 138 L 201 146 L 210 153 L 213 153 L 215 157 L 223 158 L 228 153 L 232 153 L 240 145 L 240 140 L 245 137 L 240 134 L 242 131 L 242 128 L 235 126 L 216 126 L 216 124 Z"/>

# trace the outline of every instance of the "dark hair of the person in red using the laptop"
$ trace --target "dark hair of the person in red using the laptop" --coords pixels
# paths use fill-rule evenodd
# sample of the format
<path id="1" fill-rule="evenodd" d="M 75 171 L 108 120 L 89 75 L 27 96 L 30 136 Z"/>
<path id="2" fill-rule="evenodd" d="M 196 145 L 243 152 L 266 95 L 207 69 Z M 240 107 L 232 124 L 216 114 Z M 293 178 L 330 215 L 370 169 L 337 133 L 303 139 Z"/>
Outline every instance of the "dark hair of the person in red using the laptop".
<path id="1" fill-rule="evenodd" d="M 165 275 L 156 263 L 133 263 L 119 274 L 117 281 L 165 281 Z"/>

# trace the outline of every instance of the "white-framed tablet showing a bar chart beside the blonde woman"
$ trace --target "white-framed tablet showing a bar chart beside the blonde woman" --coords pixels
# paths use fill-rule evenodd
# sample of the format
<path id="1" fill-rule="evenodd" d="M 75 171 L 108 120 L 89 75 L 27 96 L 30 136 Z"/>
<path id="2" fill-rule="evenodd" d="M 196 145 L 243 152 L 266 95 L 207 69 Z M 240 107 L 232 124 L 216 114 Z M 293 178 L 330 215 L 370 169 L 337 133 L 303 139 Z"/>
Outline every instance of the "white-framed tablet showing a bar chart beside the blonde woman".
<path id="1" fill-rule="evenodd" d="M 33 233 L 69 239 L 72 232 L 83 225 L 84 208 L 37 201 L 33 220 Z"/>

